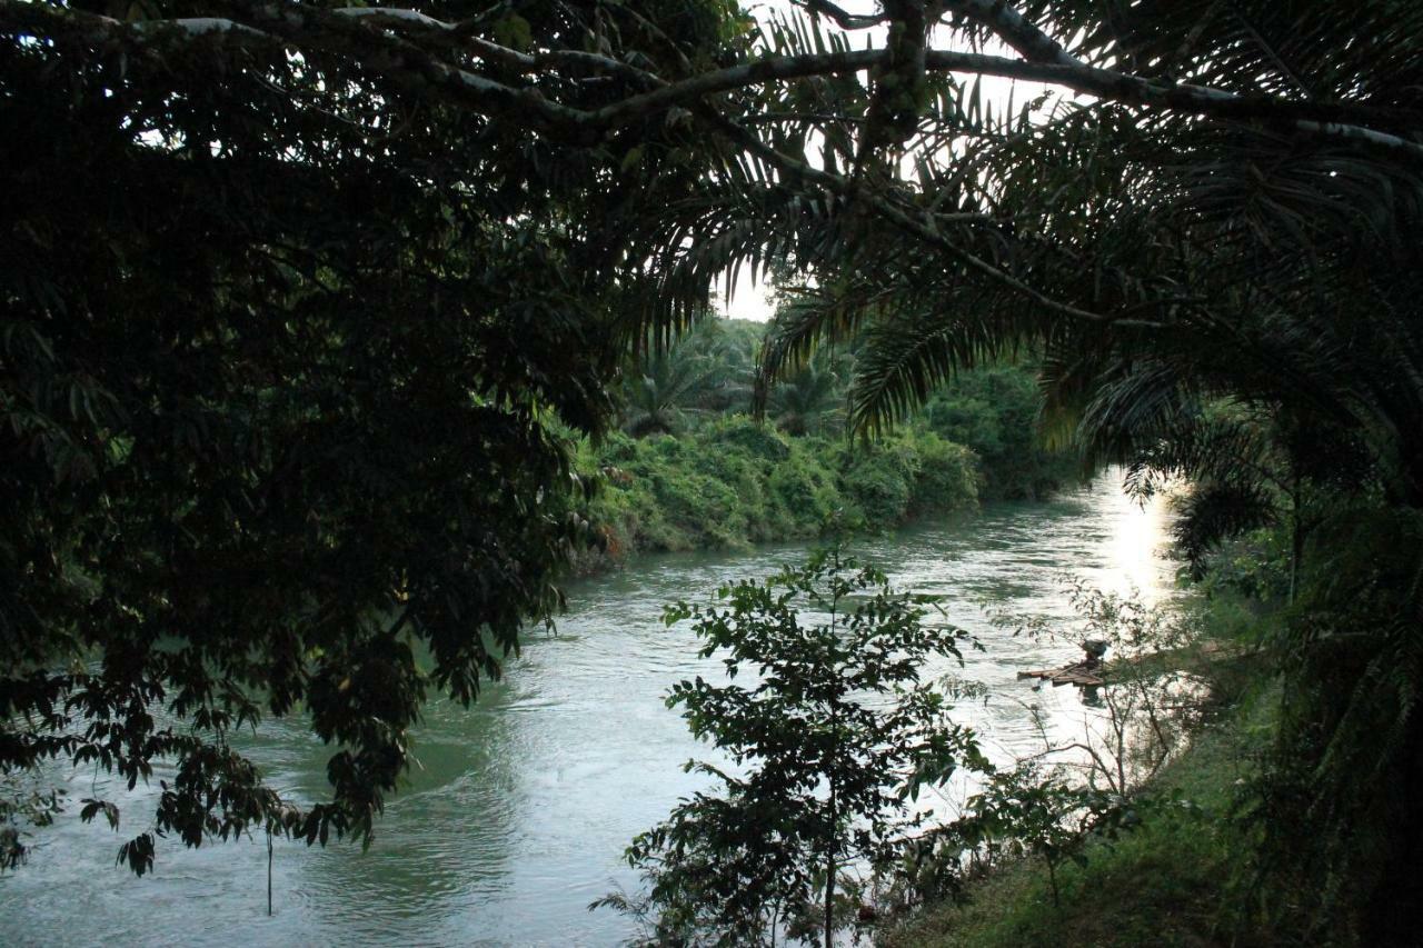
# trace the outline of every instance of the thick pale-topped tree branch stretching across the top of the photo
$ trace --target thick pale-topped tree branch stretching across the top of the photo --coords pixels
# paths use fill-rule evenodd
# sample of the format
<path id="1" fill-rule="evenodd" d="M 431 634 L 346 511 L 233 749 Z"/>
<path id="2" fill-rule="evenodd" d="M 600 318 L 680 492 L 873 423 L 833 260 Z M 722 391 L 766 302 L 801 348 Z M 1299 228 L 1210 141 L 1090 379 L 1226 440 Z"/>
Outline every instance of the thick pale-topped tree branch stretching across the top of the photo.
<path id="1" fill-rule="evenodd" d="M 973 3 L 965 9 L 978 9 Z M 985 16 L 995 13 L 999 19 L 1007 17 L 1005 30 L 1017 23 L 1007 16 L 1012 11 L 1006 7 L 990 0 L 983 0 L 983 3 L 988 4 Z M 582 137 L 598 135 L 643 121 L 657 112 L 673 107 L 686 107 L 719 93 L 771 81 L 869 70 L 879 65 L 887 57 L 885 50 L 764 57 L 666 83 L 652 91 L 630 95 L 603 108 L 581 110 L 555 102 L 535 88 L 508 85 L 472 71 L 472 68 L 451 64 L 404 36 L 397 36 L 388 28 L 370 30 L 359 20 L 386 24 L 408 23 L 417 30 L 434 33 L 450 33 L 457 30 L 458 24 L 433 20 L 414 11 L 384 7 L 322 10 L 309 4 L 252 3 L 250 0 L 235 0 L 233 6 L 242 10 L 245 21 L 203 17 L 124 24 L 108 17 L 47 4 L 0 0 L 0 23 L 7 24 L 11 30 L 18 28 L 36 36 L 55 36 L 78 30 L 90 38 L 135 43 L 161 43 L 166 38 L 191 41 L 195 37 L 215 33 L 223 34 L 223 41 L 266 44 L 280 41 L 297 50 L 307 48 L 347 56 L 361 68 L 384 77 L 400 88 L 435 91 L 482 114 L 517 115 L 549 131 Z M 605 56 L 575 50 L 525 54 L 478 37 L 467 38 L 470 51 L 475 56 L 522 73 L 552 71 L 559 65 L 576 63 L 586 68 L 636 75 L 647 84 L 662 81 Z M 1037 48 L 1035 56 L 1046 56 L 1046 47 L 1039 48 L 1042 44 L 1033 44 L 1027 40 L 1023 40 L 1026 46 Z M 1070 57 L 1067 58 L 1070 60 Z M 1409 155 L 1413 159 L 1423 159 L 1423 144 L 1379 128 L 1379 125 L 1385 128 L 1423 128 L 1423 120 L 1412 111 L 1382 110 L 1353 102 L 1296 101 L 1269 95 L 1244 97 L 1200 85 L 1157 83 L 1114 70 L 1083 65 L 1076 60 L 1049 63 L 979 53 L 929 50 L 925 65 L 935 71 L 1030 80 L 1106 101 L 1163 111 L 1294 127 L 1312 137 L 1368 144 Z"/>

